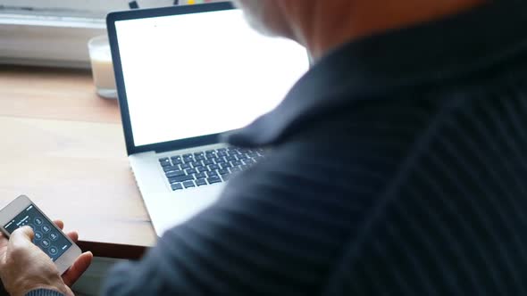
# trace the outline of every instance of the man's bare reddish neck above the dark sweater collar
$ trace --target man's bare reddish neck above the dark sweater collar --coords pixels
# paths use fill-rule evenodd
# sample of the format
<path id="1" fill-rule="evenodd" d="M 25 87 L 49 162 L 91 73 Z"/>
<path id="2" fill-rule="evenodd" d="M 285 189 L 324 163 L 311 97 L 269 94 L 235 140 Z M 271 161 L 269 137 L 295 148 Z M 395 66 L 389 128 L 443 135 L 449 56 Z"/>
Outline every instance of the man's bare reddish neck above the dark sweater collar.
<path id="1" fill-rule="evenodd" d="M 486 2 L 486 0 L 313 1 L 314 5 L 307 8 L 309 11 L 297 15 L 299 18 L 297 28 L 292 28 L 292 32 L 297 41 L 308 48 L 314 60 L 318 60 L 331 49 L 359 37 L 438 20 Z"/>

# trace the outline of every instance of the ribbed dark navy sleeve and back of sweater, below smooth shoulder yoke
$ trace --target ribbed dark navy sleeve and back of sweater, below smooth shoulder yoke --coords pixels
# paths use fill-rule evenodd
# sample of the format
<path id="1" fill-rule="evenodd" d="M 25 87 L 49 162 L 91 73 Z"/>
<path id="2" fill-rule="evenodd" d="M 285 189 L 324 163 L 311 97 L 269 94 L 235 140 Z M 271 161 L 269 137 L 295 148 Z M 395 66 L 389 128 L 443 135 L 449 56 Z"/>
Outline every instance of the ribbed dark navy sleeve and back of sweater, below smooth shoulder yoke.
<path id="1" fill-rule="evenodd" d="M 106 294 L 527 295 L 525 83 L 291 138 Z"/>

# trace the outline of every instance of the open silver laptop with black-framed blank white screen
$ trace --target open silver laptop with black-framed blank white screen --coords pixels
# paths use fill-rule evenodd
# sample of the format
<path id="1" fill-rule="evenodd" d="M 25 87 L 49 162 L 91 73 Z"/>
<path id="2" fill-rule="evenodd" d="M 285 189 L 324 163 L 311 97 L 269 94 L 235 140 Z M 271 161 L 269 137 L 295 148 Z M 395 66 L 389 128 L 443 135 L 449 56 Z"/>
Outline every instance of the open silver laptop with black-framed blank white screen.
<path id="1" fill-rule="evenodd" d="M 264 157 L 219 136 L 275 108 L 309 59 L 303 46 L 257 33 L 230 3 L 113 12 L 106 21 L 130 167 L 161 236 Z"/>

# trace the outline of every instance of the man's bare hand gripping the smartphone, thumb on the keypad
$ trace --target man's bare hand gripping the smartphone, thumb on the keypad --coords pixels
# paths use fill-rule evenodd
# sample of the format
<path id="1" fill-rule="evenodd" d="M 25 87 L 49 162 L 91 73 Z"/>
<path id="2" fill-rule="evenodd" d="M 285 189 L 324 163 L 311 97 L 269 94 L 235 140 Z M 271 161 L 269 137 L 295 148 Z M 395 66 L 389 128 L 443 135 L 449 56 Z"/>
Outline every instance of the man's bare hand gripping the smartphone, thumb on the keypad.
<path id="1" fill-rule="evenodd" d="M 62 221 L 56 220 L 54 223 L 63 229 Z M 68 236 L 75 243 L 79 239 L 76 232 Z M 9 241 L 4 235 L 0 237 L 0 277 L 5 290 L 13 296 L 25 295 L 39 288 L 73 295 L 70 286 L 89 267 L 93 258 L 91 252 L 81 254 L 61 276 L 54 262 L 31 243 L 32 240 L 33 230 L 29 226 L 15 230 Z"/>

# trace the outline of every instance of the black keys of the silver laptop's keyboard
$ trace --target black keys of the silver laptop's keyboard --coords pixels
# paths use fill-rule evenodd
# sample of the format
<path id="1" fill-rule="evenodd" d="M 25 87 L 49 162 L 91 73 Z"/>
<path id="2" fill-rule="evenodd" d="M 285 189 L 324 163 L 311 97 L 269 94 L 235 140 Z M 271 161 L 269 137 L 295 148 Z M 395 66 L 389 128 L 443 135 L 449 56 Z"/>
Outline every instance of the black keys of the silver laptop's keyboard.
<path id="1" fill-rule="evenodd" d="M 172 191 L 222 183 L 263 158 L 262 149 L 220 148 L 159 159 Z"/>

